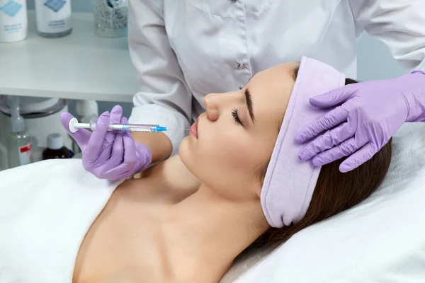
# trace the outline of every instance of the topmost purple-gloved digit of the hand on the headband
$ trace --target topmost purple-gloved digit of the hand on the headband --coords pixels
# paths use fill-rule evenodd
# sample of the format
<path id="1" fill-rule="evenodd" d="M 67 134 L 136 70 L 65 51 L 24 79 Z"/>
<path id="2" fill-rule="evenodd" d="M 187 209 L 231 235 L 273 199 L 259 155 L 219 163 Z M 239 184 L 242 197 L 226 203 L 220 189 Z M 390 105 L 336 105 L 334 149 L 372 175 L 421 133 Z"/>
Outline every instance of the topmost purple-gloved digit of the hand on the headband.
<path id="1" fill-rule="evenodd" d="M 319 94 L 310 98 L 310 104 L 318 108 L 330 108 L 346 102 L 346 100 L 353 98 L 356 94 L 358 86 L 356 83 L 336 88 L 327 93 Z"/>

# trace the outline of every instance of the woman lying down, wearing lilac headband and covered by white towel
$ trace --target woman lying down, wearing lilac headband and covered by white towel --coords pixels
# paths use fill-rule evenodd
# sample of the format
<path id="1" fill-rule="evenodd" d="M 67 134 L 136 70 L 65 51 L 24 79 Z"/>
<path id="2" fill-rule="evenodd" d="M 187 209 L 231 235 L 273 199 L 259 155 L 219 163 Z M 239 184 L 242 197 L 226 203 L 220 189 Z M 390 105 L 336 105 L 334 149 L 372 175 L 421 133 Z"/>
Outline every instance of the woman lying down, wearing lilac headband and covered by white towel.
<path id="1" fill-rule="evenodd" d="M 345 79 L 313 59 L 205 97 L 207 112 L 174 156 L 111 183 L 81 161 L 0 173 L 0 282 L 219 282 L 245 250 L 358 204 L 380 185 L 390 142 L 348 173 L 297 158 L 308 98 Z"/>

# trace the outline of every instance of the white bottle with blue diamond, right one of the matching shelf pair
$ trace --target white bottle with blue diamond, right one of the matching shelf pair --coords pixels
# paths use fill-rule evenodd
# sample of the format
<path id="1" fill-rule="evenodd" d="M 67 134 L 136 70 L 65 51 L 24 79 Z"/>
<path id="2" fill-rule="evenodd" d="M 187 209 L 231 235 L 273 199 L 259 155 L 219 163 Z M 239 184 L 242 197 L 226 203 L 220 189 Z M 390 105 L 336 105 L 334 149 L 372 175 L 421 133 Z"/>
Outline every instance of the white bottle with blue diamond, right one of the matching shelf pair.
<path id="1" fill-rule="evenodd" d="M 35 0 L 38 35 L 48 38 L 72 33 L 71 0 Z"/>

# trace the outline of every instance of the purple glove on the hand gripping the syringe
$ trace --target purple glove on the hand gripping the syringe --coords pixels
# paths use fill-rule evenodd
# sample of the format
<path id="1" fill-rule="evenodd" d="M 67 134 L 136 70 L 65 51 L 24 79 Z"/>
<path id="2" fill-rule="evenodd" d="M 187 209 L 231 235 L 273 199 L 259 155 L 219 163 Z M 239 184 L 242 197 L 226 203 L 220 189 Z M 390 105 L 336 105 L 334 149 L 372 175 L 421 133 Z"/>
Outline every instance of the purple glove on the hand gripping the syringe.
<path id="1" fill-rule="evenodd" d="M 62 125 L 79 145 L 83 155 L 83 166 L 86 171 L 97 178 L 120 180 L 129 178 L 137 172 L 145 170 L 152 162 L 151 151 L 132 138 L 129 132 L 108 132 L 109 124 L 127 123 L 122 117 L 123 108 L 116 105 L 109 112 L 104 112 L 98 119 L 94 131 L 78 129 L 69 132 L 69 120 L 73 116 L 62 113 Z"/>

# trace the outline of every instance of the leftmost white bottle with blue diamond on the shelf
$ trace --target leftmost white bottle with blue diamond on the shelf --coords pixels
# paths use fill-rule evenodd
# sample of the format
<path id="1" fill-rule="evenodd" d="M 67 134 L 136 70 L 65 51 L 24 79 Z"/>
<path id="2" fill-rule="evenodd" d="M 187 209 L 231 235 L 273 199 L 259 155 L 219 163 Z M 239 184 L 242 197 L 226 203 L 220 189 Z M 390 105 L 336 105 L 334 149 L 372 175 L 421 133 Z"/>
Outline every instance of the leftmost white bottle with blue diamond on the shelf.
<path id="1" fill-rule="evenodd" d="M 26 0 L 0 0 L 0 42 L 28 37 Z"/>

